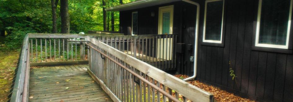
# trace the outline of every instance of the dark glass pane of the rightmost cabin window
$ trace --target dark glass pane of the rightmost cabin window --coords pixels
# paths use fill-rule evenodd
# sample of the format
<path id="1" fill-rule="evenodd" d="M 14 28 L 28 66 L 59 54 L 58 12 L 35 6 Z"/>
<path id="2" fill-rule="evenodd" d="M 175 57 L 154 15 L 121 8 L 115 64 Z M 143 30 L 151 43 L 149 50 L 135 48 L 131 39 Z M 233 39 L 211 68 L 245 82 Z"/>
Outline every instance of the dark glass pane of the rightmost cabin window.
<path id="1" fill-rule="evenodd" d="M 290 0 L 262 0 L 260 44 L 286 45 Z"/>

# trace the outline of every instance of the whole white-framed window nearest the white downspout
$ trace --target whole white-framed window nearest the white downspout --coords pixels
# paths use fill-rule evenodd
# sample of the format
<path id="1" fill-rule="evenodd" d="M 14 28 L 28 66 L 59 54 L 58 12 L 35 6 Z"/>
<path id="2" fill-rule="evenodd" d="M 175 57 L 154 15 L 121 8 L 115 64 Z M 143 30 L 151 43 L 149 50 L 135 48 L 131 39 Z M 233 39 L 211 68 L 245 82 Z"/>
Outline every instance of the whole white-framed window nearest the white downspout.
<path id="1" fill-rule="evenodd" d="M 203 42 L 222 43 L 224 0 L 207 0 L 205 4 Z"/>

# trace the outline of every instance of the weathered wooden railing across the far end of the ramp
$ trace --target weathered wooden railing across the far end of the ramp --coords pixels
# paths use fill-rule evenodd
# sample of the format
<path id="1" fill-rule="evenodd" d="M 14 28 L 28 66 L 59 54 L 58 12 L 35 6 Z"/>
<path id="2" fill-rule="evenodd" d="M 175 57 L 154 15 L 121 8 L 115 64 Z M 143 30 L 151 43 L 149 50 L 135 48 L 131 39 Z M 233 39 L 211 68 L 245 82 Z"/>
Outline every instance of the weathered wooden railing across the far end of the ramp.
<path id="1" fill-rule="evenodd" d="M 40 34 L 29 33 L 31 62 L 87 60 L 86 36 L 123 34 Z"/>

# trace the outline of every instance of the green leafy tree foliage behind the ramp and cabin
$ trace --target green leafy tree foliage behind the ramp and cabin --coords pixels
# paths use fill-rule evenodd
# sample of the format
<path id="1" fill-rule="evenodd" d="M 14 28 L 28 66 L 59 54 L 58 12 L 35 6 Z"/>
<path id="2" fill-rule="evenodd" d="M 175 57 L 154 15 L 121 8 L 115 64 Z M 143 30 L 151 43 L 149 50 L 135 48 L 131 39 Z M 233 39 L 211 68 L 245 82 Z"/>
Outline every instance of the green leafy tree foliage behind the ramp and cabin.
<path id="1" fill-rule="evenodd" d="M 135 0 L 123 0 L 123 3 Z M 104 0 L 105 8 L 120 5 L 121 0 Z M 102 0 L 69 0 L 70 33 L 103 30 Z M 119 30 L 119 12 L 114 14 L 114 31 Z M 111 15 L 108 12 L 109 18 Z M 108 19 L 109 20 L 109 19 Z M 56 28 L 60 33 L 60 1 L 56 6 Z M 111 24 L 111 20 L 108 21 Z M 51 33 L 51 0 L 0 0 L 0 30 L 5 31 L 5 44 L 19 48 L 26 33 Z M 109 30 L 112 30 L 109 27 Z M 1 47 L 0 46 L 0 47 Z"/>

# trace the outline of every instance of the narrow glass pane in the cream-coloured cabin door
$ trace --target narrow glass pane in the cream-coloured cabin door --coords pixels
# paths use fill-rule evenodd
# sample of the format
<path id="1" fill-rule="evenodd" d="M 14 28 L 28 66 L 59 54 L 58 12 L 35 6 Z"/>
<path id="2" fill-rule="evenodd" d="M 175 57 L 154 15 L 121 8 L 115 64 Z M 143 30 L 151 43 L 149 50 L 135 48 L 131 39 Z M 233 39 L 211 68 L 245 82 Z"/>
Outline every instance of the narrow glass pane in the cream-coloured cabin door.
<path id="1" fill-rule="evenodd" d="M 169 34 L 169 30 L 170 30 L 170 12 L 164 12 L 162 34 Z"/>

